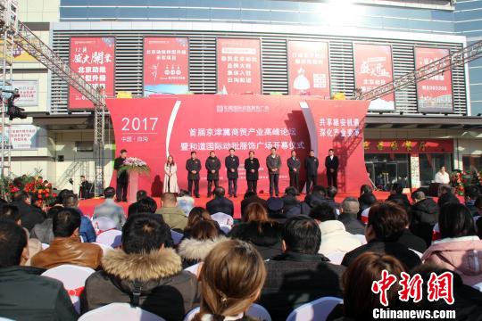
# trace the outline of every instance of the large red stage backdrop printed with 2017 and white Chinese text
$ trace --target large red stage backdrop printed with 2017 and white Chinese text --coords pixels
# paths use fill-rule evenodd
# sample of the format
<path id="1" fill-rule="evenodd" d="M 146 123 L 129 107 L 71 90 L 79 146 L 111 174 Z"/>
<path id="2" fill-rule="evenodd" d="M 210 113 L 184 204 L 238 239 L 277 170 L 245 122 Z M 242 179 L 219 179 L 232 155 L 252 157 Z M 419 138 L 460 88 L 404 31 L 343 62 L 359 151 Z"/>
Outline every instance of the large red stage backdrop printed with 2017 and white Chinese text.
<path id="1" fill-rule="evenodd" d="M 206 193 L 204 162 L 211 150 L 220 158 L 220 185 L 227 187 L 224 158 L 234 147 L 244 164 L 249 150 L 260 160 L 258 190 L 267 193 L 266 157 L 275 146 L 281 155 L 280 188 L 288 185 L 287 159 L 292 149 L 303 159 L 312 145 L 320 151 L 320 182 L 326 184 L 324 158 L 333 146 L 340 157 L 341 191 L 357 191 L 367 183 L 363 161 L 362 122 L 366 102 L 324 101 L 306 96 L 176 95 L 169 97 L 109 99 L 116 148 L 149 164 L 150 177 L 140 177 L 139 188 L 162 193 L 163 164 L 171 154 L 178 164 L 181 188 L 187 188 L 186 161 L 191 151 L 201 159 L 201 192 Z M 200 111 L 199 103 L 203 109 Z M 135 108 L 134 108 L 135 106 Z M 302 108 L 303 106 L 303 108 Z M 310 112 L 310 110 L 312 110 Z M 141 113 L 137 111 L 142 111 Z M 308 111 L 308 112 L 306 112 Z M 194 116 L 195 115 L 195 116 Z M 307 117 L 307 120 L 305 118 Z M 326 127 L 320 127 L 325 119 Z M 328 120 L 329 119 L 329 120 Z M 329 125 L 328 125 L 329 121 Z M 307 126 L 308 125 L 308 126 Z M 308 128 L 311 128 L 309 134 Z M 313 129 L 314 128 L 314 129 Z M 320 136 L 321 128 L 325 136 Z M 312 132 L 314 130 L 314 132 Z M 310 137 L 311 136 L 311 137 Z M 322 176 L 322 177 L 321 177 Z M 302 176 L 304 180 L 304 172 Z M 115 183 L 115 174 L 112 184 Z M 303 183 L 303 182 L 302 182 Z M 239 169 L 239 193 L 245 193 L 245 169 Z"/>

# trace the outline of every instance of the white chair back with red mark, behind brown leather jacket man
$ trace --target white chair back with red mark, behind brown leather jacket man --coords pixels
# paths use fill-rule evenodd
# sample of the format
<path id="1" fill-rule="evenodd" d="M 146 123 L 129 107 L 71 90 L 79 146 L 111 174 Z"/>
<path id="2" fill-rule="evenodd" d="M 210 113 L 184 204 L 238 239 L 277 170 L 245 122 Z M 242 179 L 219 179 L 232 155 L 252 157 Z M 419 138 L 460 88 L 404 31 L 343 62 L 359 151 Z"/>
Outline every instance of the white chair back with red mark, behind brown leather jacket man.
<path id="1" fill-rule="evenodd" d="M 72 304 L 77 312 L 80 311 L 79 296 L 84 291 L 87 277 L 93 274 L 94 269 L 78 267 L 70 264 L 61 265 L 51 268 L 42 273 L 42 276 L 48 276 L 62 282 L 63 287 L 69 293 Z"/>

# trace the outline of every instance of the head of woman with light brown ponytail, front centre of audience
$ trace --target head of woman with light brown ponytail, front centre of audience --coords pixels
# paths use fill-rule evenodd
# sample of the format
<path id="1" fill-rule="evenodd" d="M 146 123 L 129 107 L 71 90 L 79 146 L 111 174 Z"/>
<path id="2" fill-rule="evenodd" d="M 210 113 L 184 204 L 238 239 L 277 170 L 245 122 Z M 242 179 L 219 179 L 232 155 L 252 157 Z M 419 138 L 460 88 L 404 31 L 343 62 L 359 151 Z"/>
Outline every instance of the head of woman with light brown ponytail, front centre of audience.
<path id="1" fill-rule="evenodd" d="M 201 309 L 194 320 L 253 320 L 245 312 L 258 299 L 265 279 L 264 262 L 252 245 L 219 243 L 201 268 Z"/>

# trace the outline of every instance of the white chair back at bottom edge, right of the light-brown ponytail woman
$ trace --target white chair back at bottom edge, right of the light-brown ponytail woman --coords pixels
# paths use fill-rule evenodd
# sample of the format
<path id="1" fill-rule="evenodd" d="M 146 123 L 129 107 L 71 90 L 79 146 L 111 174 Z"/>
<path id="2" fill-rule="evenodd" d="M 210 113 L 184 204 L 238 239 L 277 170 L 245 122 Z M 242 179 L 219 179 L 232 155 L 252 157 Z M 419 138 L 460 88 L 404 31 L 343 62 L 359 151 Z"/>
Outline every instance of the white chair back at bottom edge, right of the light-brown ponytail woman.
<path id="1" fill-rule="evenodd" d="M 324 297 L 313 300 L 292 311 L 287 317 L 287 321 L 325 321 L 337 304 L 342 302 L 342 299 L 335 297 Z"/>

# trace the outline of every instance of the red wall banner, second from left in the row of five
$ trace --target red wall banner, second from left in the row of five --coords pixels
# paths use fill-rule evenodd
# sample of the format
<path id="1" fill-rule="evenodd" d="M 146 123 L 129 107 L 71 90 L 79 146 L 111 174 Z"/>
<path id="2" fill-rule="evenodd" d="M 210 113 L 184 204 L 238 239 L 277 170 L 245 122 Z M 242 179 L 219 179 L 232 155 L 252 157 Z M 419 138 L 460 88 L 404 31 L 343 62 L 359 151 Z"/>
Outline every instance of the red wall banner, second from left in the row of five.
<path id="1" fill-rule="evenodd" d="M 144 38 L 144 96 L 187 94 L 189 91 L 187 37 Z"/>

